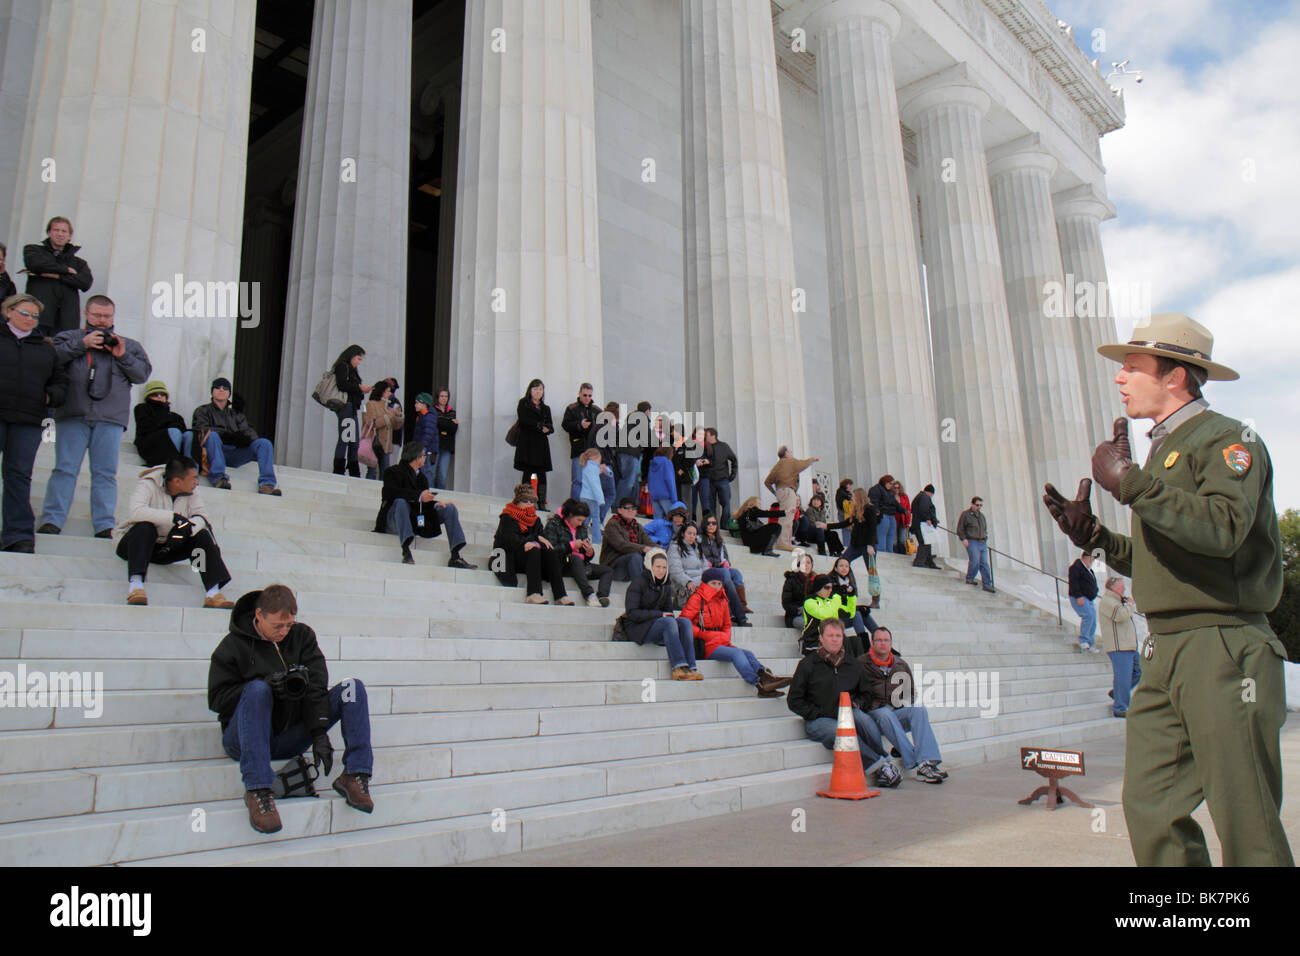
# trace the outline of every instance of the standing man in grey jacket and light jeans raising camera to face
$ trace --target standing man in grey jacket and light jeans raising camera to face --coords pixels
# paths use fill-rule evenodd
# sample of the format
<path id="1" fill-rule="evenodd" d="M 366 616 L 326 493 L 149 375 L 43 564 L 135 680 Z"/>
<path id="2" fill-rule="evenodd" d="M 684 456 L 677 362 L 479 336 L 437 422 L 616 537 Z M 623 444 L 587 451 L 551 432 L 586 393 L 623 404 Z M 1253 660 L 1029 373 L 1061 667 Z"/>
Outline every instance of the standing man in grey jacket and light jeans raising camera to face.
<path id="1" fill-rule="evenodd" d="M 55 470 L 46 483 L 39 535 L 57 535 L 68 519 L 86 451 L 95 537 L 112 537 L 117 511 L 117 453 L 131 415 L 131 386 L 153 367 L 144 347 L 113 330 L 117 307 L 107 295 L 86 299 L 86 328 L 60 332 L 55 355 L 68 371 L 68 398 L 55 410 Z"/>

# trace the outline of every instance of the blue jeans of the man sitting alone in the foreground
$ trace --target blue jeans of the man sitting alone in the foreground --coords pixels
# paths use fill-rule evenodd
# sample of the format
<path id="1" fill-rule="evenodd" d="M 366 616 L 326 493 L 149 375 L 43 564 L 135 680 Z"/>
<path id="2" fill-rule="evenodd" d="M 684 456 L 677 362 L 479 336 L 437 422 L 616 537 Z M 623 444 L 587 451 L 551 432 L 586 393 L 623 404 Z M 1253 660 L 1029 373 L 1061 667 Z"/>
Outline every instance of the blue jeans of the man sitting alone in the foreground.
<path id="1" fill-rule="evenodd" d="M 351 683 L 355 700 L 343 702 L 343 693 Z M 221 745 L 230 760 L 239 761 L 244 790 L 269 790 L 276 782 L 270 769 L 273 760 L 289 760 L 312 745 L 312 735 L 299 723 L 276 735 L 270 727 L 274 705 L 270 684 L 250 680 L 244 684 L 234 717 L 221 735 Z M 355 678 L 334 684 L 329 689 L 329 726 L 343 721 L 343 773 L 369 774 L 374 769 L 370 753 L 370 705 L 365 697 L 365 684 Z"/>

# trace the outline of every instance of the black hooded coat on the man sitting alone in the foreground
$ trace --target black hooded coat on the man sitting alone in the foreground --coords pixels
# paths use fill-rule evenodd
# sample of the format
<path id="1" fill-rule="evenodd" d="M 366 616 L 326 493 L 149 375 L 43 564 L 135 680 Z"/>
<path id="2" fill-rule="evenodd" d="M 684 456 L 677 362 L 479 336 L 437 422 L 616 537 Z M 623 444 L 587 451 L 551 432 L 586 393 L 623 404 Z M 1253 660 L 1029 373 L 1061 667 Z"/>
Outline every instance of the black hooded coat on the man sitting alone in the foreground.
<path id="1" fill-rule="evenodd" d="M 270 730 L 278 735 L 304 724 L 315 736 L 316 731 L 329 730 L 325 654 L 316 643 L 316 632 L 302 622 L 289 628 L 280 644 L 259 635 L 254 624 L 254 605 L 260 596 L 260 591 L 250 591 L 235 601 L 230 611 L 230 632 L 212 652 L 208 666 L 208 710 L 217 714 L 224 731 L 235 715 L 244 684 L 302 665 L 309 672 L 307 696 L 299 701 L 277 700 L 270 710 Z"/>

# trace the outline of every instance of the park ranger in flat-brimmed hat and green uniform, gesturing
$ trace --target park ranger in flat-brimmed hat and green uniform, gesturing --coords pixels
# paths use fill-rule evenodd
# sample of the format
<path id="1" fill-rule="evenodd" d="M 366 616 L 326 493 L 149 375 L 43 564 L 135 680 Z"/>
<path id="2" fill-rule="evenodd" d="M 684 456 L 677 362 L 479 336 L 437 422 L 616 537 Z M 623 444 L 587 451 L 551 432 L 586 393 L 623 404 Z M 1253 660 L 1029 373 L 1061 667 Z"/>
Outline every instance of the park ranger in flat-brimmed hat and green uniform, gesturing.
<path id="1" fill-rule="evenodd" d="M 1070 540 L 1105 551 L 1145 613 L 1143 675 L 1127 717 L 1124 817 L 1139 866 L 1208 866 L 1192 819 L 1204 800 L 1227 866 L 1292 866 L 1282 829 L 1286 652 L 1268 618 L 1282 596 L 1282 542 L 1269 451 L 1247 425 L 1209 410 L 1214 338 L 1183 315 L 1154 315 L 1134 341 L 1097 351 L 1123 367 L 1130 419 L 1152 419 L 1138 467 L 1128 423 L 1092 455 L 1093 479 L 1132 507 L 1132 535 L 1097 522 L 1083 479 L 1074 501 L 1043 501 Z"/>

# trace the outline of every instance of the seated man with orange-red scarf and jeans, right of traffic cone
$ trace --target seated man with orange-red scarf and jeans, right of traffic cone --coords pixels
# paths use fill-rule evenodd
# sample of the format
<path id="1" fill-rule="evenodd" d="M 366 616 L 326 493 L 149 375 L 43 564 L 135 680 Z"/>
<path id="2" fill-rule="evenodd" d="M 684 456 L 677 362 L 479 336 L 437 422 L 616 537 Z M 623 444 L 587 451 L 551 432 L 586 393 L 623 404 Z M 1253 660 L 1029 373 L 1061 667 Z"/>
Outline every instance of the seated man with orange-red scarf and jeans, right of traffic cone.
<path id="1" fill-rule="evenodd" d="M 939 754 L 939 741 L 930 728 L 930 713 L 914 706 L 916 687 L 911 667 L 893 649 L 893 635 L 888 627 L 878 627 L 871 635 L 871 648 L 858 658 L 867 671 L 871 688 L 862 708 L 875 721 L 880 734 L 893 741 L 902 757 L 904 770 L 915 771 L 924 783 L 942 783 L 948 771 L 940 770 L 944 760 Z M 907 739 L 911 731 L 911 740 Z"/>

